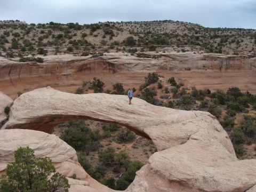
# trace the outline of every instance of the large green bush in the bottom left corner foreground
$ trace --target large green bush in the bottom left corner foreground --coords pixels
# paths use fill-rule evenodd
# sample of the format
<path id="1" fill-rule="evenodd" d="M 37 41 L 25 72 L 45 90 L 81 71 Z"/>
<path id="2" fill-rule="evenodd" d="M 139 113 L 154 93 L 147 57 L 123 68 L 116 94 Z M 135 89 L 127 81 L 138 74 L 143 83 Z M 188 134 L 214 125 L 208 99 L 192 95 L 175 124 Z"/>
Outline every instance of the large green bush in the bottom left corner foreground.
<path id="1" fill-rule="evenodd" d="M 0 181 L 0 191 L 68 191 L 67 178 L 56 172 L 49 157 L 35 157 L 33 149 L 20 147 L 14 158 Z"/>

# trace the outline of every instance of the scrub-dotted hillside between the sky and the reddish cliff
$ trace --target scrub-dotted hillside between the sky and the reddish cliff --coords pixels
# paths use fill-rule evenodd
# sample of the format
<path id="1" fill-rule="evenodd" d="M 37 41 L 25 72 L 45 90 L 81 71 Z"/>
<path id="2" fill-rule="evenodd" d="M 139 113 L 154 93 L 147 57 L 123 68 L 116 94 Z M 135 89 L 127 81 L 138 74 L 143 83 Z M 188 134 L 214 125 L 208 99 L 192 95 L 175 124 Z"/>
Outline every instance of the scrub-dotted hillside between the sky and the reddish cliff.
<path id="1" fill-rule="evenodd" d="M 155 51 L 168 45 L 174 51 L 227 53 L 255 57 L 256 30 L 241 28 L 205 28 L 179 21 L 105 22 L 90 25 L 79 23 L 34 23 L 0 21 L 0 50 L 8 57 L 29 53 L 58 54 L 108 51 L 123 46 L 140 46 Z M 38 51 L 38 48 L 39 49 Z M 42 50 L 42 47 L 46 51 Z M 119 48 L 118 48 L 119 47 Z M 48 50 L 47 50 L 48 49 Z M 143 50 L 141 52 L 143 52 Z M 7 51 L 7 52 L 6 52 Z M 87 53 L 89 52 L 89 53 Z"/>

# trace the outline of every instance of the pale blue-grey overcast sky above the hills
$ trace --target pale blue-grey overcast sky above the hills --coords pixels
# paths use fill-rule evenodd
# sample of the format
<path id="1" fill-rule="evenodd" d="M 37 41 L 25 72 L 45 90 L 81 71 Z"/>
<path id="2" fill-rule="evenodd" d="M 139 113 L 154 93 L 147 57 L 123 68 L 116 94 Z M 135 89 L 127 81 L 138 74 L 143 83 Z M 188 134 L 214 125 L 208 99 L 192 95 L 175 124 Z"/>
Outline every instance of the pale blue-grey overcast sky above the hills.
<path id="1" fill-rule="evenodd" d="M 0 0 L 0 20 L 27 23 L 173 20 L 256 29 L 256 0 Z"/>

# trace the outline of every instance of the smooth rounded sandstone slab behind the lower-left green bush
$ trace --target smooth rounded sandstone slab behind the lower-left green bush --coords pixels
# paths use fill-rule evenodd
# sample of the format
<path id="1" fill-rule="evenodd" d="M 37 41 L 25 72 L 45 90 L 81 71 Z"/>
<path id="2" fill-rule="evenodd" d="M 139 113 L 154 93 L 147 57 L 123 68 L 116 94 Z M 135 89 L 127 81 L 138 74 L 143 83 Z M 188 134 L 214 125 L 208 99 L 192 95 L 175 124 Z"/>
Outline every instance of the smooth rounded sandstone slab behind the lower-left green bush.
<path id="1" fill-rule="evenodd" d="M 56 170 L 66 175 L 71 186 L 69 191 L 113 191 L 101 185 L 88 175 L 77 161 L 76 151 L 53 134 L 34 130 L 0 130 L 0 176 L 6 165 L 14 162 L 14 151 L 27 147 L 35 151 L 37 157 L 50 157 Z M 77 179 L 72 179 L 76 174 Z"/>

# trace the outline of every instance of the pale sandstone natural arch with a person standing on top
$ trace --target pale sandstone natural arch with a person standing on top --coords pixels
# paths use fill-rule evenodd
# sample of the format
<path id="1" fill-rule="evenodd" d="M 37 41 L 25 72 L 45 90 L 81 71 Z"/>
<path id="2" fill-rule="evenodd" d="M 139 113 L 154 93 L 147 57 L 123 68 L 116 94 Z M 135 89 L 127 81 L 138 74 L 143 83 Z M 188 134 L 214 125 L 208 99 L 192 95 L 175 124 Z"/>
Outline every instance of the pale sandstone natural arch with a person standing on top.
<path id="1" fill-rule="evenodd" d="M 46 87 L 15 100 L 9 122 L 2 129 L 50 133 L 55 124 L 70 119 L 116 122 L 153 140 L 158 152 L 150 156 L 126 191 L 250 191 L 255 188 L 256 160 L 238 161 L 225 130 L 214 116 L 203 111 L 158 107 L 138 98 L 128 105 L 125 95 L 76 95 Z M 66 170 L 66 163 L 62 164 Z M 59 166 L 61 170 L 62 165 Z M 91 181 L 86 181 L 92 187 Z M 80 189 L 86 191 L 84 187 Z"/>

